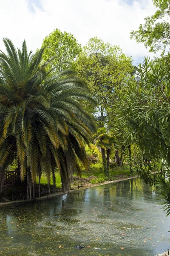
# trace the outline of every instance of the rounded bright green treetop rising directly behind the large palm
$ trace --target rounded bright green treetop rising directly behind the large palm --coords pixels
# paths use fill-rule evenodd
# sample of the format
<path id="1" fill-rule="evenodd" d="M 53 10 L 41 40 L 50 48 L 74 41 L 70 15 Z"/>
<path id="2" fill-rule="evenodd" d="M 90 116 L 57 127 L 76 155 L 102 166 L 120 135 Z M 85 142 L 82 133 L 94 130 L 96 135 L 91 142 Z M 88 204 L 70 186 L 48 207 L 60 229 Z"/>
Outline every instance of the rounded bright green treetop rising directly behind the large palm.
<path id="1" fill-rule="evenodd" d="M 50 62 L 48 68 L 56 66 L 59 62 L 72 63 L 82 51 L 81 45 L 71 33 L 61 32 L 55 29 L 50 35 L 46 36 L 42 43 L 44 52 L 42 61 L 45 62 L 51 56 L 55 58 Z M 67 64 L 55 68 L 55 72 L 61 72 L 67 68 Z"/>

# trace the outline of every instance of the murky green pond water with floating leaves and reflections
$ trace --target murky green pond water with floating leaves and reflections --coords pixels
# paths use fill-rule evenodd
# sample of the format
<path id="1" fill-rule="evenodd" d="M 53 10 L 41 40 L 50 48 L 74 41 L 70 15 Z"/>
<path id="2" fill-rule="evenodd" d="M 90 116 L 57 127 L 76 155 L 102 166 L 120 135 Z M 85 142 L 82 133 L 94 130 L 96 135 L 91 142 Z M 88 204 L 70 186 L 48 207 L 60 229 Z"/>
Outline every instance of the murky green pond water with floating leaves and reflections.
<path id="1" fill-rule="evenodd" d="M 0 256 L 162 253 L 170 248 L 170 219 L 152 190 L 134 179 L 0 208 Z"/>

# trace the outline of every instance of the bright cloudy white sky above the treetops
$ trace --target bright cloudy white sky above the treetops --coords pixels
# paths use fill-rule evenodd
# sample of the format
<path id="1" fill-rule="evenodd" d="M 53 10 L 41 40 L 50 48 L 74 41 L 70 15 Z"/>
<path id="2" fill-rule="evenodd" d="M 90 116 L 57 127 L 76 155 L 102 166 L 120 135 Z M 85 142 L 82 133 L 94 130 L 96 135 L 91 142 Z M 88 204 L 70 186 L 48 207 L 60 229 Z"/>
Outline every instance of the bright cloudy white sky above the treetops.
<path id="1" fill-rule="evenodd" d="M 119 45 L 134 64 L 153 56 L 130 40 L 130 31 L 155 12 L 152 0 L 0 0 L 0 9 L 1 50 L 7 37 L 18 48 L 26 39 L 28 49 L 35 51 L 57 28 L 73 34 L 82 46 L 94 36 Z"/>

